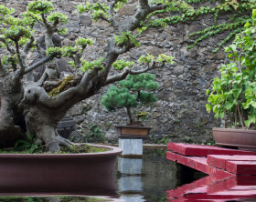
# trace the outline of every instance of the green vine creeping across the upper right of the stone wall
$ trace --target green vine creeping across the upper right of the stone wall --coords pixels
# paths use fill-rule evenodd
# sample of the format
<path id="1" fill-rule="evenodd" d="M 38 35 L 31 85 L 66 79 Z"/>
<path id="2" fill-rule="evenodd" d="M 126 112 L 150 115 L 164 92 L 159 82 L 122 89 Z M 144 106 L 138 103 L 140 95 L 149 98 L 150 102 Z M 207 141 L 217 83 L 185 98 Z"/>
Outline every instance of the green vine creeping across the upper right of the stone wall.
<path id="1" fill-rule="evenodd" d="M 199 6 L 201 3 L 216 3 L 208 6 Z M 165 0 L 160 0 L 159 3 L 166 3 Z M 196 8 L 198 7 L 198 8 Z M 246 23 L 251 23 L 251 11 L 256 8 L 255 0 L 184 0 L 171 1 L 168 6 L 163 10 L 155 11 L 151 15 L 148 15 L 148 21 L 142 23 L 145 27 L 150 26 L 166 26 L 184 24 L 189 21 L 195 20 L 201 15 L 212 14 L 214 16 L 214 25 L 209 25 L 206 29 L 191 33 L 188 37 L 193 35 L 197 36 L 197 39 L 192 45 L 188 45 L 187 48 L 193 48 L 198 45 L 199 42 L 217 35 L 229 31 L 229 35 L 219 42 L 213 52 L 217 52 L 219 48 L 226 44 L 237 33 L 243 31 Z M 167 12 L 176 12 L 176 15 L 163 15 Z M 228 23 L 219 23 L 219 16 L 222 14 L 228 14 Z M 153 16 L 157 16 L 155 19 Z"/>

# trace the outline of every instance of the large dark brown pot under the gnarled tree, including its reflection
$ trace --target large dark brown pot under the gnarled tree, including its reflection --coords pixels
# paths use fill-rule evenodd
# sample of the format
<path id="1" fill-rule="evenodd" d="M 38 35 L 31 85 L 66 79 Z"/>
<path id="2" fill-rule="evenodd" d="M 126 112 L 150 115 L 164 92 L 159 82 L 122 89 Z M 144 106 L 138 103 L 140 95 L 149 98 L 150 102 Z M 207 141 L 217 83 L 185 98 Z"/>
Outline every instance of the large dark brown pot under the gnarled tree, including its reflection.
<path id="1" fill-rule="evenodd" d="M 1 154 L 0 195 L 115 195 L 112 173 L 122 149 L 81 154 Z"/>

